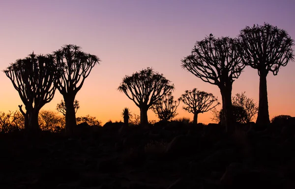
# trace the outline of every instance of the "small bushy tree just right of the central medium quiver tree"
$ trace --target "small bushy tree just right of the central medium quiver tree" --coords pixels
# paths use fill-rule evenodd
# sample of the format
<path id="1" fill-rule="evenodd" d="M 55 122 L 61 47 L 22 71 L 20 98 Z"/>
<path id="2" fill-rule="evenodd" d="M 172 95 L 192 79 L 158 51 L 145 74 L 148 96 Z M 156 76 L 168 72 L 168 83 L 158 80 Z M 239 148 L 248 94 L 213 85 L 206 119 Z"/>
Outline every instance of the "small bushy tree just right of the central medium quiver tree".
<path id="1" fill-rule="evenodd" d="M 160 120 L 169 121 L 177 116 L 176 109 L 178 105 L 179 101 L 174 100 L 174 96 L 172 96 L 172 92 L 170 91 L 166 95 L 163 95 L 150 108 L 157 114 Z"/>

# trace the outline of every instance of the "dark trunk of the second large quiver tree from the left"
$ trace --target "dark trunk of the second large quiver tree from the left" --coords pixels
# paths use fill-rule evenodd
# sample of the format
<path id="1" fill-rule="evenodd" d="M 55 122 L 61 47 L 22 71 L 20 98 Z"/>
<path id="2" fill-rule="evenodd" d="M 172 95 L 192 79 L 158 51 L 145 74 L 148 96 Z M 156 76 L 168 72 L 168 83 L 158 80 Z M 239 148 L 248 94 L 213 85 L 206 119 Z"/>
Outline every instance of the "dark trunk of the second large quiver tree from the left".
<path id="1" fill-rule="evenodd" d="M 77 126 L 76 112 L 74 107 L 75 96 L 63 96 L 66 108 L 65 112 L 65 134 L 73 135 L 74 128 Z"/>

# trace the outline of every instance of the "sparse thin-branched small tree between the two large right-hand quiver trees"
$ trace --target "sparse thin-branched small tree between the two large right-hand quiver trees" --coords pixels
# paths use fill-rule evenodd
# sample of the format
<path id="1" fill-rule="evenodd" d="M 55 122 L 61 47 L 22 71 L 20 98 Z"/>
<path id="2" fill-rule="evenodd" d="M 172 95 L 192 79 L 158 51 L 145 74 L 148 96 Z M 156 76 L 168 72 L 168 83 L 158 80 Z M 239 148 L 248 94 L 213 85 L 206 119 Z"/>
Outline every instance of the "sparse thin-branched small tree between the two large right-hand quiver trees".
<path id="1" fill-rule="evenodd" d="M 236 93 L 236 96 L 232 98 L 232 103 L 233 103 L 233 106 L 241 107 L 246 111 L 247 116 L 243 120 L 243 123 L 249 123 L 254 119 L 255 115 L 257 114 L 258 107 L 256 103 L 254 102 L 254 100 L 251 98 L 248 98 L 245 95 L 245 93 L 246 93 L 245 91 L 242 93 Z"/>

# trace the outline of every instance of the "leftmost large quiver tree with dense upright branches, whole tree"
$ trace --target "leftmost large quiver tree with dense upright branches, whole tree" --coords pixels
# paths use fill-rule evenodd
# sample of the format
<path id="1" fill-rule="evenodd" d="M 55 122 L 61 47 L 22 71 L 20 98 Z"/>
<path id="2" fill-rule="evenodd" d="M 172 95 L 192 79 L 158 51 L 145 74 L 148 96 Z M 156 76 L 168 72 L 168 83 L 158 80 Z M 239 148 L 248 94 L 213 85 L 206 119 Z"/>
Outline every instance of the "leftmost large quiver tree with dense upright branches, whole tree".
<path id="1" fill-rule="evenodd" d="M 56 90 L 54 83 L 61 75 L 54 57 L 32 53 L 11 63 L 3 72 L 11 80 L 25 105 L 26 112 L 22 105 L 19 106 L 25 118 L 25 129 L 39 130 L 39 111 L 53 99 Z"/>

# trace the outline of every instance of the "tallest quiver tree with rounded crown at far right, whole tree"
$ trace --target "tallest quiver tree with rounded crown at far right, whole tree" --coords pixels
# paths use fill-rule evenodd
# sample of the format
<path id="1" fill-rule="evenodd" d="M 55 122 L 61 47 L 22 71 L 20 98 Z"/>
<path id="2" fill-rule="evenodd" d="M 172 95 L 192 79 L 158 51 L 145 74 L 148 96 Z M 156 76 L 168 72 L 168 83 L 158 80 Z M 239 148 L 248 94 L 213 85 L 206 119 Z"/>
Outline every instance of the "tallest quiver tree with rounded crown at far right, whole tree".
<path id="1" fill-rule="evenodd" d="M 240 31 L 240 53 L 245 65 L 257 69 L 259 79 L 259 106 L 256 123 L 269 124 L 266 76 L 277 75 L 281 66 L 294 59 L 294 41 L 287 31 L 273 27 L 254 25 Z"/>

